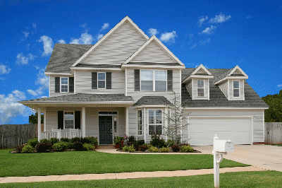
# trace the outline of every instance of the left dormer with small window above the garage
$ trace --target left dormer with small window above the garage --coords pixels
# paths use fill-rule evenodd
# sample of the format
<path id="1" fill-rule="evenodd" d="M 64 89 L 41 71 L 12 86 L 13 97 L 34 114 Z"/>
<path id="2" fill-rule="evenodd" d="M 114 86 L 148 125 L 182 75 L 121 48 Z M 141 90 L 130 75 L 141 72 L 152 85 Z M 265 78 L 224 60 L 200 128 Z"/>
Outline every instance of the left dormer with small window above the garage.
<path id="1" fill-rule="evenodd" d="M 185 83 L 192 100 L 209 100 L 209 79 L 212 73 L 202 64 L 191 71 L 182 83 Z"/>

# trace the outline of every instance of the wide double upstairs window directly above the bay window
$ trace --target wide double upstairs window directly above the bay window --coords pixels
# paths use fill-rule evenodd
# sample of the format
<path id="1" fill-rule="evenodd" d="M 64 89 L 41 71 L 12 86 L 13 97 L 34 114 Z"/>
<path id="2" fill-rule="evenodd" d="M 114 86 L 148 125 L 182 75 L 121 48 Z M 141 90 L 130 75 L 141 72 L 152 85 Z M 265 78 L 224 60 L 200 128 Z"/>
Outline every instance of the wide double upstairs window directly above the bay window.
<path id="1" fill-rule="evenodd" d="M 141 90 L 166 91 L 166 71 L 141 70 Z"/>

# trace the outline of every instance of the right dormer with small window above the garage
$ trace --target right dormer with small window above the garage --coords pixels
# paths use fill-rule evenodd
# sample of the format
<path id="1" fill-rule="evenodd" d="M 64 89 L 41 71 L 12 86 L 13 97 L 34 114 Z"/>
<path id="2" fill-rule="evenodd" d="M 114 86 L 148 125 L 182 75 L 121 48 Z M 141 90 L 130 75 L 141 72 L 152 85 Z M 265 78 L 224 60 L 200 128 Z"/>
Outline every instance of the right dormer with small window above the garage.
<path id="1" fill-rule="evenodd" d="M 214 85 L 219 86 L 228 100 L 245 100 L 244 83 L 248 76 L 237 65 L 218 76 Z"/>

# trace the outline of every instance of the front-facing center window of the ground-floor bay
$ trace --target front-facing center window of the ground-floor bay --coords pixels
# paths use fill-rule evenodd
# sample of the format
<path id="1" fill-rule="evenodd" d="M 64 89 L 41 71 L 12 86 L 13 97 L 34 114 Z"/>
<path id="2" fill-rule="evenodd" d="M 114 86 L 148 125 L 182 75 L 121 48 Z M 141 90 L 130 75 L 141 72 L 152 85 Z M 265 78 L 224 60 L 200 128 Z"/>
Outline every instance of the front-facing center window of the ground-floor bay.
<path id="1" fill-rule="evenodd" d="M 148 110 L 149 134 L 162 134 L 162 110 Z"/>

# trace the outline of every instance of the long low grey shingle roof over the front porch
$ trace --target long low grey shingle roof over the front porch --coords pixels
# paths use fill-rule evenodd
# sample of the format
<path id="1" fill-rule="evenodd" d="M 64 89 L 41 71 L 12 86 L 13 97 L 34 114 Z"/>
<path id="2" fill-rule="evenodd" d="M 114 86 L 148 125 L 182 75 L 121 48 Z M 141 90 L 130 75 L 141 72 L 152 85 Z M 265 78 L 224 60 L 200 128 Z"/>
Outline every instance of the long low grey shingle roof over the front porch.
<path id="1" fill-rule="evenodd" d="M 77 93 L 71 95 L 61 95 L 51 98 L 38 98 L 34 100 L 22 100 L 20 103 L 60 103 L 60 102 L 115 102 L 134 101 L 133 98 L 124 94 L 85 94 Z"/>

